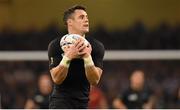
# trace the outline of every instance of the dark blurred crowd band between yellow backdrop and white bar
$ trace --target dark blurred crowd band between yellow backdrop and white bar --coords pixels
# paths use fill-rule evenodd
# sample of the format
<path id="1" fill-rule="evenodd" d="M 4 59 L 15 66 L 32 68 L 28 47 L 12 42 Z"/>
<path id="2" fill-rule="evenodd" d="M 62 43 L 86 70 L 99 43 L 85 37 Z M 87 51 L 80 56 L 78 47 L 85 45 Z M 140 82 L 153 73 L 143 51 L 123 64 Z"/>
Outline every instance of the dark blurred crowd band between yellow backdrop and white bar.
<path id="1" fill-rule="evenodd" d="M 170 26 L 161 23 L 151 29 L 142 22 L 136 22 L 126 29 L 108 31 L 99 25 L 93 30 L 88 35 L 100 40 L 107 50 L 180 49 L 180 24 Z M 66 33 L 55 23 L 42 30 L 32 26 L 23 32 L 6 26 L 0 31 L 0 50 L 47 50 L 52 39 Z"/>

